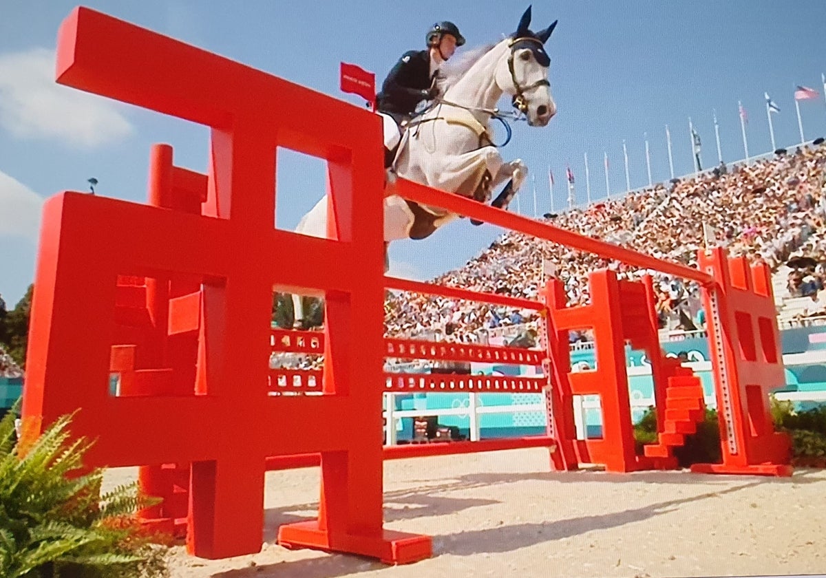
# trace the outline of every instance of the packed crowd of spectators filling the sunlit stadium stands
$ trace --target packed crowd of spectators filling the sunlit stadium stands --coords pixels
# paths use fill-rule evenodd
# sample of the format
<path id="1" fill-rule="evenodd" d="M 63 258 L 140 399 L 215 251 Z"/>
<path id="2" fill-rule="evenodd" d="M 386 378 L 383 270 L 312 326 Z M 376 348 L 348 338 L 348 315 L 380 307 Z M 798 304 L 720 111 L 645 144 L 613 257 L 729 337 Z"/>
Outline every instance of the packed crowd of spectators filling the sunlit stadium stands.
<path id="1" fill-rule="evenodd" d="M 826 281 L 824 164 L 826 144 L 820 141 L 730 169 L 721 164 L 713 171 L 675 179 L 667 186 L 657 185 L 545 219 L 563 229 L 694 267 L 697 250 L 705 243 L 703 225 L 707 225 L 731 255 L 767 263 L 772 271 L 790 258 L 808 258 L 803 261 L 805 267 L 789 274 L 790 296 L 814 294 L 816 298 Z M 533 299 L 541 289 L 543 270 L 548 268 L 565 283 L 571 305 L 588 302 L 587 275 L 594 269 L 612 268 L 624 279 L 638 279 L 648 272 L 511 231 L 462 268 L 434 282 Z M 701 329 L 705 320 L 699 287 L 648 273 L 655 279 L 662 324 L 681 319 L 683 329 Z M 498 328 L 531 328 L 536 321 L 532 310 L 418 293 L 395 293 L 385 302 L 388 336 L 425 334 L 477 342 Z M 572 340 L 582 337 L 575 335 Z"/>

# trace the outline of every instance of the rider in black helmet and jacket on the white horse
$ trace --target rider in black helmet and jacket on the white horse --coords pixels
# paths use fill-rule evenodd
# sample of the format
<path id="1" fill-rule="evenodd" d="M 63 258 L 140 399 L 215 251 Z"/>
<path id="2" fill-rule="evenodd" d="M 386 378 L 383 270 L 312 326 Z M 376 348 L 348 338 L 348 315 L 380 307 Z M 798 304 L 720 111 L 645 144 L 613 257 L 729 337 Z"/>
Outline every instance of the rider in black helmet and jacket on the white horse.
<path id="1" fill-rule="evenodd" d="M 436 74 L 458 46 L 465 43 L 458 26 L 451 21 L 434 24 L 425 36 L 427 50 L 410 50 L 401 55 L 382 83 L 382 92 L 376 96 L 377 110 L 384 116 L 384 145 L 389 164 L 401 141 L 399 126 L 415 116 L 416 106 L 422 101 L 433 100 Z M 395 121 L 392 122 L 392 121 Z M 395 124 L 396 126 L 393 126 Z"/>

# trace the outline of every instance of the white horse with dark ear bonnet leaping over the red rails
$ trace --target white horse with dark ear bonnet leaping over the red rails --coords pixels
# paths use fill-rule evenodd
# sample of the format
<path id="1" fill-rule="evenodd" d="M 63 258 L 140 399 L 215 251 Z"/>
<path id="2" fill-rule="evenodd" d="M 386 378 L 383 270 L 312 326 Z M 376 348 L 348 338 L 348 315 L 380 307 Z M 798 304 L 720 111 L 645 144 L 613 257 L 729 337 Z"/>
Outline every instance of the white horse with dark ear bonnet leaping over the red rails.
<path id="1" fill-rule="evenodd" d="M 510 95 L 514 107 L 524 114 L 529 126 L 546 126 L 556 114 L 548 83 L 550 59 L 544 50 L 556 27 L 554 21 L 544 31 L 529 30 L 530 7 L 520 19 L 516 32 L 501 42 L 484 47 L 454 66 L 443 67 L 439 92 L 430 109 L 415 117 L 401 138 L 390 176 L 454 192 L 477 201 L 489 201 L 491 191 L 510 179 L 493 201 L 506 208 L 528 175 L 520 159 L 506 163 L 493 144 L 490 121 L 501 113 L 496 109 L 503 94 Z M 388 122 L 389 121 L 389 122 Z M 395 121 L 385 117 L 385 131 L 397 131 Z M 386 135 L 385 141 L 388 139 Z M 385 271 L 387 244 L 396 239 L 425 239 L 458 215 L 439 207 L 420 206 L 396 195 L 384 200 Z M 327 199 L 322 197 L 301 218 L 297 233 L 326 236 Z M 474 222 L 474 224 L 477 224 Z M 295 325 L 302 326 L 301 296 L 293 295 Z"/>

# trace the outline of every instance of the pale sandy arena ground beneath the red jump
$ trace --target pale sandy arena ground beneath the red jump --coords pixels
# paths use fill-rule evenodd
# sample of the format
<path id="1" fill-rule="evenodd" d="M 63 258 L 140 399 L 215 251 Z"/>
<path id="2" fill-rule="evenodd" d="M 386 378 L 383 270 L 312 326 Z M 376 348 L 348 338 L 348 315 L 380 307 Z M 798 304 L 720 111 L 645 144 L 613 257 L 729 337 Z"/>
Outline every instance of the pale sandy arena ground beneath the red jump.
<path id="1" fill-rule="evenodd" d="M 135 470 L 107 476 L 128 481 Z M 826 471 L 555 473 L 544 449 L 386 462 L 386 528 L 433 536 L 434 556 L 407 566 L 273 543 L 279 524 L 314 517 L 318 476 L 268 473 L 262 551 L 208 561 L 178 547 L 172 576 L 826 574 Z"/>

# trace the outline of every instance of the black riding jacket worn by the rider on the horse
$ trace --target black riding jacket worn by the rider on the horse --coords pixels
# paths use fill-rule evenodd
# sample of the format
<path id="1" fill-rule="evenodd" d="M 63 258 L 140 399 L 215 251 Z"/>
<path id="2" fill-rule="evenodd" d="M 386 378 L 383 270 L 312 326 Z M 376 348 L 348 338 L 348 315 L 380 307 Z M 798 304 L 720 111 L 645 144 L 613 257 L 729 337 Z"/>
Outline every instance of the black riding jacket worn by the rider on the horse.
<path id="1" fill-rule="evenodd" d="M 377 95 L 378 110 L 412 114 L 430 88 L 430 50 L 411 50 L 387 74 Z"/>

